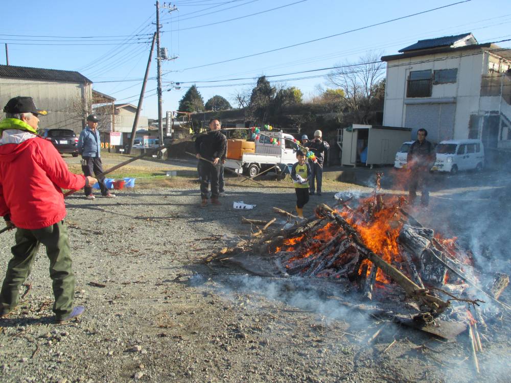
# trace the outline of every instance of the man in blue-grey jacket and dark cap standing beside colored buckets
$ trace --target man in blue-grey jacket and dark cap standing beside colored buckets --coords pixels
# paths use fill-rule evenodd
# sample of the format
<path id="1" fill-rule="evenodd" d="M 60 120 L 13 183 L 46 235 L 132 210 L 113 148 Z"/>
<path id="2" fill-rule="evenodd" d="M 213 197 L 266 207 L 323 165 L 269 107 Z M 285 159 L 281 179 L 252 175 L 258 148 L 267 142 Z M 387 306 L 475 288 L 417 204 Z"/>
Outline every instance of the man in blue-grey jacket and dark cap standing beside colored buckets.
<path id="1" fill-rule="evenodd" d="M 82 155 L 82 171 L 85 177 L 92 176 L 94 173 L 98 179 L 101 195 L 106 198 L 115 198 L 114 194 L 105 186 L 105 176 L 103 175 L 103 164 L 101 163 L 101 139 L 98 131 L 99 118 L 95 114 L 87 117 L 87 126 L 80 133 L 78 138 L 78 153 Z M 94 200 L 92 187 L 85 186 L 85 197 L 88 200 Z"/>

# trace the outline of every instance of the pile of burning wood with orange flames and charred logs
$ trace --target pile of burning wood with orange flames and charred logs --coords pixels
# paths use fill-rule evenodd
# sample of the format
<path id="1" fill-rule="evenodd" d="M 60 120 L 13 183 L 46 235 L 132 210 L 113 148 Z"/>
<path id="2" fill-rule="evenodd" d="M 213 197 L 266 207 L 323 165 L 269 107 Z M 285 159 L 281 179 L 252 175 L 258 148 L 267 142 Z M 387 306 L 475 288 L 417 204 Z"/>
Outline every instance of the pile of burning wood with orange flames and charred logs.
<path id="1" fill-rule="evenodd" d="M 319 205 L 315 217 L 267 233 L 273 219 L 254 234 L 255 241 L 228 257 L 259 275 L 345 282 L 374 302 L 398 295 L 416 309 L 414 319 L 429 323 L 445 317 L 453 301 L 472 305 L 475 316 L 483 302 L 477 298 L 511 308 L 497 300 L 506 275 L 493 291 L 481 288 L 471 252 L 423 227 L 405 208 L 402 196 L 375 189 L 366 198 L 340 200 L 334 209 Z"/>

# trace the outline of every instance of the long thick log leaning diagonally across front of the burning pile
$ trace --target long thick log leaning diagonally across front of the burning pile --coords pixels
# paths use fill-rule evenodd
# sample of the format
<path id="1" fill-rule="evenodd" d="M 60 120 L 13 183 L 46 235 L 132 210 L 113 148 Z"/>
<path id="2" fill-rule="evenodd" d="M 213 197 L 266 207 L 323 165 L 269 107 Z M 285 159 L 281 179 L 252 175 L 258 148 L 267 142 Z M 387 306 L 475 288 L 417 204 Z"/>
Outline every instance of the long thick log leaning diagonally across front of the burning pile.
<path id="1" fill-rule="evenodd" d="M 317 213 L 320 216 L 328 216 L 335 220 L 344 229 L 349 238 L 354 242 L 355 247 L 362 254 L 362 256 L 369 259 L 375 266 L 382 269 L 385 274 L 387 274 L 396 283 L 398 283 L 403 288 L 403 290 L 405 290 L 409 297 L 418 301 L 420 305 L 427 306 L 432 314 L 440 314 L 444 312 L 447 307 L 449 307 L 448 301 L 445 302 L 442 299 L 430 295 L 427 290 L 421 289 L 420 286 L 417 286 L 401 271 L 388 264 L 385 260 L 367 248 L 360 240 L 356 230 L 349 223 L 347 223 L 346 220 L 340 216 L 340 214 L 332 210 L 329 206 L 324 204 L 318 206 Z"/>

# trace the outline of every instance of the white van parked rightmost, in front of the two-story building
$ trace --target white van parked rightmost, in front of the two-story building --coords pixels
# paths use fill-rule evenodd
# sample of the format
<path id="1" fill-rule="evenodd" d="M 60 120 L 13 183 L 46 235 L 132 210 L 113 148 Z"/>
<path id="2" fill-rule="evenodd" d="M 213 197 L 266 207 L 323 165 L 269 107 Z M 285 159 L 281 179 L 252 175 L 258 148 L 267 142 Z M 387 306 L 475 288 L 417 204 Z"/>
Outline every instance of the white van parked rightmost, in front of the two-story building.
<path id="1" fill-rule="evenodd" d="M 436 161 L 431 170 L 456 174 L 460 170 L 481 171 L 484 147 L 480 139 L 450 139 L 436 146 Z"/>

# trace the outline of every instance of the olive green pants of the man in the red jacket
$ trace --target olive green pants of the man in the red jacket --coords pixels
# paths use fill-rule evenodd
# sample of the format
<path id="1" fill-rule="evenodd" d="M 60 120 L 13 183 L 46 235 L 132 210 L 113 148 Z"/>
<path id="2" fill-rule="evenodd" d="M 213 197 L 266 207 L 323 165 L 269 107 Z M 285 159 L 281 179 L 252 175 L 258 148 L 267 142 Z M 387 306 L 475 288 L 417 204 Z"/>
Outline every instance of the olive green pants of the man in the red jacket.
<path id="1" fill-rule="evenodd" d="M 30 275 L 39 246 L 46 247 L 50 258 L 50 277 L 53 280 L 55 304 L 53 312 L 57 319 L 64 318 L 73 310 L 75 276 L 72 270 L 71 248 L 64 221 L 37 230 L 16 230 L 16 245 L 11 248 L 12 259 L 0 292 L 0 312 L 9 313 L 19 303 L 19 288 Z"/>

